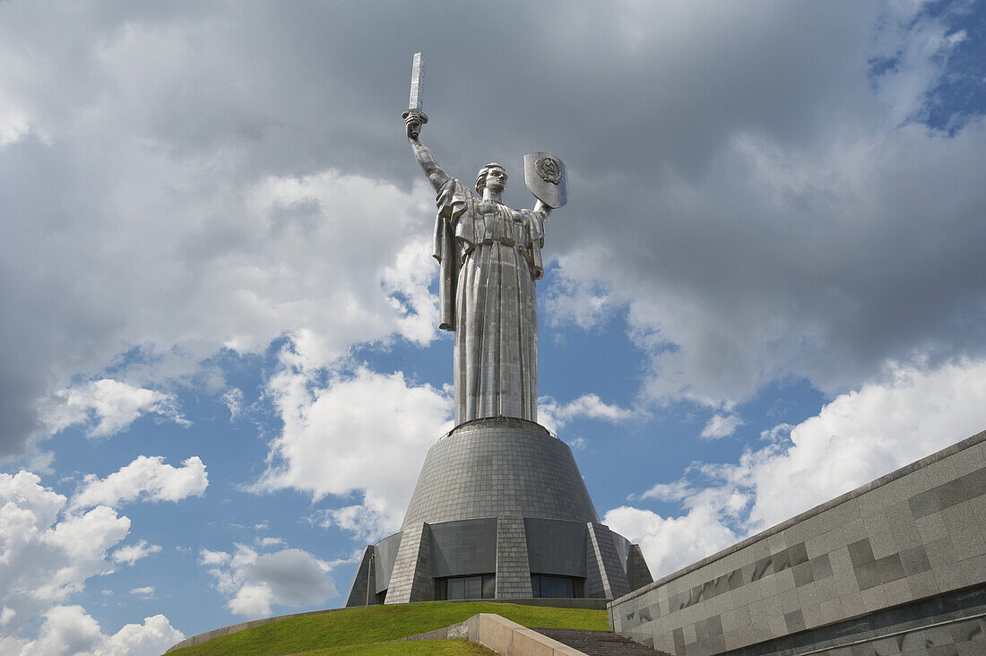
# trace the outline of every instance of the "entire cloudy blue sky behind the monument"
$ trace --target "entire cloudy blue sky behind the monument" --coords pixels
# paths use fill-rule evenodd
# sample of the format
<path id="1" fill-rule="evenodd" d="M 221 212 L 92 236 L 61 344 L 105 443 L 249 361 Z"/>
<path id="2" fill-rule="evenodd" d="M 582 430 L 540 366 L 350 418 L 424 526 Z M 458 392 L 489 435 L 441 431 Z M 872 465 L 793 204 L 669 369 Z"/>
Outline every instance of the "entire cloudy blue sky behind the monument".
<path id="1" fill-rule="evenodd" d="M 986 428 L 981 2 L 0 3 L 0 651 L 344 603 L 452 425 L 434 199 L 570 174 L 539 417 L 655 575 Z"/>

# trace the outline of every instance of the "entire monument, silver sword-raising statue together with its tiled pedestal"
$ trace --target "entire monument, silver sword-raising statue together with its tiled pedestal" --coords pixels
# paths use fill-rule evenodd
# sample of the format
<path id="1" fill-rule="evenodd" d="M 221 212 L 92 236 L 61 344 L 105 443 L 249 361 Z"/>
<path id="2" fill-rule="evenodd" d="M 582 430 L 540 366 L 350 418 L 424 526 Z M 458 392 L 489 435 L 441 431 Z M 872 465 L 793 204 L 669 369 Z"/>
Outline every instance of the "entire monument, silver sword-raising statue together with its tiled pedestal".
<path id="1" fill-rule="evenodd" d="M 640 547 L 599 523 L 572 450 L 537 423 L 535 282 L 548 216 L 567 200 L 565 165 L 525 156 L 536 202 L 521 210 L 502 202 L 500 164 L 480 169 L 474 187 L 450 176 L 420 139 L 421 64 L 417 53 L 403 117 L 437 194 L 439 327 L 456 333 L 456 427 L 428 450 L 400 531 L 366 548 L 346 606 L 566 598 L 602 609 L 651 574 Z"/>

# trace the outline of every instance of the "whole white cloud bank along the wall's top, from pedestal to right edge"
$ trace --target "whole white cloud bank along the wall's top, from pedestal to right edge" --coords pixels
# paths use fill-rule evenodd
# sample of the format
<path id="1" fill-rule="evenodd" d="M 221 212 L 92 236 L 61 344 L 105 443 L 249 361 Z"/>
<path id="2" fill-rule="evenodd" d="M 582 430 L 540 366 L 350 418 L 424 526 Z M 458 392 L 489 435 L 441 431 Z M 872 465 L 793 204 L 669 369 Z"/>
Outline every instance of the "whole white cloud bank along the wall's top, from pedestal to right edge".
<path id="1" fill-rule="evenodd" d="M 640 542 L 652 573 L 668 574 L 983 430 L 984 407 L 986 361 L 895 367 L 739 462 L 693 466 L 640 495 L 680 501 L 683 515 L 620 507 L 603 521 Z"/>

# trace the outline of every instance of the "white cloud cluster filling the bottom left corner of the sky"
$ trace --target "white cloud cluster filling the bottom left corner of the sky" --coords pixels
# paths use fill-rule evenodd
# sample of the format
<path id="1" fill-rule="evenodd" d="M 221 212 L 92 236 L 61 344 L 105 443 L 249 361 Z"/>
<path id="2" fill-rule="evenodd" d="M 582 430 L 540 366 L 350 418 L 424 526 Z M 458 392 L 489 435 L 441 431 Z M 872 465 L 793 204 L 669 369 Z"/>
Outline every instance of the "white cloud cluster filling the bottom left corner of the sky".
<path id="1" fill-rule="evenodd" d="M 64 605 L 89 579 L 155 546 L 117 547 L 130 520 L 103 505 L 68 512 L 65 496 L 30 472 L 0 474 L 0 653 L 160 654 L 182 635 L 164 616 L 127 624 L 112 635 L 79 606 Z M 117 547 L 115 551 L 110 551 Z M 40 632 L 33 620 L 43 617 Z"/>

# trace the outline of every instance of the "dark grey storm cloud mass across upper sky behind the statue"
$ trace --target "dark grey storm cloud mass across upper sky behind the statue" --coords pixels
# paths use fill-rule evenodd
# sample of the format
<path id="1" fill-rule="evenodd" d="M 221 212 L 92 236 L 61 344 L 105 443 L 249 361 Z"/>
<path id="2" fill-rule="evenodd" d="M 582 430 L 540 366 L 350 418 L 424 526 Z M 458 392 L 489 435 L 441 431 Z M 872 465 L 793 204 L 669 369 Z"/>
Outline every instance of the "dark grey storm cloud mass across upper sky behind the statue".
<path id="1" fill-rule="evenodd" d="M 359 339 L 312 317 L 278 327 L 257 296 L 338 287 L 385 336 L 373 266 L 430 232 L 399 118 L 417 50 L 422 138 L 450 173 L 503 162 L 520 206 L 523 154 L 565 160 L 548 255 L 626 308 L 646 397 L 741 401 L 790 376 L 836 391 L 888 359 L 982 355 L 983 120 L 922 122 L 962 43 L 947 17 L 897 11 L 0 3 L 0 455 L 42 430 L 36 401 L 135 347 L 194 361 L 309 320 Z M 895 65 L 877 73 L 881 58 Z M 395 189 L 360 191 L 381 198 L 373 220 L 340 200 L 356 215 L 336 251 L 293 256 L 328 201 L 263 223 L 250 193 L 327 170 Z M 404 203 L 399 230 L 386 202 Z M 354 242 L 387 246 L 361 263 Z M 304 266 L 290 289 L 270 282 Z"/>

